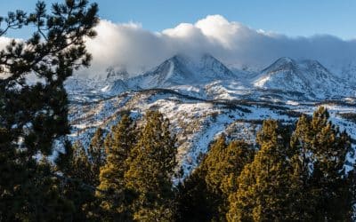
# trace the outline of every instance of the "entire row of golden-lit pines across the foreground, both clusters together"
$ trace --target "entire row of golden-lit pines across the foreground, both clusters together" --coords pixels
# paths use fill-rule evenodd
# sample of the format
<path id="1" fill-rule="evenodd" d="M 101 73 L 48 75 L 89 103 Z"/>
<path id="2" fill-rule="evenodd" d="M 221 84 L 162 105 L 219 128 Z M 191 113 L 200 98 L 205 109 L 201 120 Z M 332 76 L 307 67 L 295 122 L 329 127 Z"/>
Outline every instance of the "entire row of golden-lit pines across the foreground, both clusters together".
<path id="1" fill-rule="evenodd" d="M 157 111 L 142 122 L 123 115 L 105 139 L 95 132 L 87 152 L 76 143 L 59 158 L 71 219 L 352 221 L 355 177 L 344 169 L 350 137 L 323 107 L 295 126 L 264 121 L 257 147 L 219 137 L 176 186 L 169 122 Z"/>

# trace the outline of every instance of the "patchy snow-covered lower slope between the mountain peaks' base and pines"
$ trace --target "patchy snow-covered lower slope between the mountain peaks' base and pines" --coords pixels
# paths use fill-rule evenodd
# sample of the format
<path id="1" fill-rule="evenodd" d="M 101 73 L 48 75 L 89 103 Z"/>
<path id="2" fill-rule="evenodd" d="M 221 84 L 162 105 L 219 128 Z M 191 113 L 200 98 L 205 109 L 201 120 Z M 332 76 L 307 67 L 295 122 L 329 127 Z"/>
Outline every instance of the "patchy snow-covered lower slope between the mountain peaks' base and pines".
<path id="1" fill-rule="evenodd" d="M 73 103 L 69 109 L 69 121 L 73 126 L 70 138 L 80 139 L 88 146 L 95 129 L 100 126 L 109 131 L 117 123 L 121 112 L 130 110 L 134 117 L 139 118 L 149 109 L 158 109 L 172 123 L 172 131 L 177 135 L 179 166 L 187 175 L 198 165 L 199 156 L 208 151 L 209 144 L 221 133 L 230 139 L 246 139 L 253 143 L 264 119 L 295 123 L 297 116 L 302 113 L 311 115 L 319 106 L 328 107 L 333 123 L 356 139 L 356 123 L 340 115 L 356 113 L 355 102 L 209 100 L 185 96 L 172 90 L 132 91 L 95 102 Z"/>

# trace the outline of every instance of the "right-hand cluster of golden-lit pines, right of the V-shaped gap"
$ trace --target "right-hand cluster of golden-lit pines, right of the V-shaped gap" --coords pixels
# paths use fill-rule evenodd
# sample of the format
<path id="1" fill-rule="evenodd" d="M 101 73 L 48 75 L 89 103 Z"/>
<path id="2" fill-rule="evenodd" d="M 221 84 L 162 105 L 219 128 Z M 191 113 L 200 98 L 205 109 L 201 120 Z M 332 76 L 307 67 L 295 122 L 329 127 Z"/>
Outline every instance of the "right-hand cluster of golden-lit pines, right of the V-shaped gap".
<path id="1" fill-rule="evenodd" d="M 179 189 L 180 220 L 353 221 L 350 137 L 328 117 L 320 107 L 292 127 L 266 120 L 258 149 L 217 139 Z"/>

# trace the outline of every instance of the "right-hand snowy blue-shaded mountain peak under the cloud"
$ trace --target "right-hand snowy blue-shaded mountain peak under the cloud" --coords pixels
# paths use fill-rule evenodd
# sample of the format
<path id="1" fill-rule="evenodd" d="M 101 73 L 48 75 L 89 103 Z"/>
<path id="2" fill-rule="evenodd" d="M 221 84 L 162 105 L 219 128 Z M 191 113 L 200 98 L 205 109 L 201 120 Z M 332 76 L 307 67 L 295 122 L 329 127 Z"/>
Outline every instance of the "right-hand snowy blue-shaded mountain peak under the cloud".
<path id="1" fill-rule="evenodd" d="M 351 86 L 316 60 L 280 58 L 263 69 L 253 84 L 268 90 L 299 91 L 316 99 L 355 95 Z"/>

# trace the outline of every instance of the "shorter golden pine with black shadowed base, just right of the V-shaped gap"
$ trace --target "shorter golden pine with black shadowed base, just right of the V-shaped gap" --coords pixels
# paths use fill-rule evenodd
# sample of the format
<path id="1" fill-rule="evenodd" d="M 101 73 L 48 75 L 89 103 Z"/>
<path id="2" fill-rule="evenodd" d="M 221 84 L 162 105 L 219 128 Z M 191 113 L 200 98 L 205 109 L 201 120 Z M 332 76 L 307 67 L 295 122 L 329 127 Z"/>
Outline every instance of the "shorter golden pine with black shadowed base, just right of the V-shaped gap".
<path id="1" fill-rule="evenodd" d="M 210 147 L 198 169 L 179 186 L 179 217 L 182 221 L 225 221 L 228 198 L 237 191 L 236 180 L 254 157 L 243 141 L 226 142 L 221 136 Z"/>

